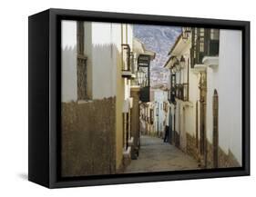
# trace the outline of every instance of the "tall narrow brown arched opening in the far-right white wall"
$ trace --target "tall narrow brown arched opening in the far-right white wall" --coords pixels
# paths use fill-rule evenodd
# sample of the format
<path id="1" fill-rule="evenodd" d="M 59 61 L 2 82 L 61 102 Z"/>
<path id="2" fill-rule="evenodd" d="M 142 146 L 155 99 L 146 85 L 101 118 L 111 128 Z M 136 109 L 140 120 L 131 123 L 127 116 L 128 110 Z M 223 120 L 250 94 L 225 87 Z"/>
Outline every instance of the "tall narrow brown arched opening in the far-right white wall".
<path id="1" fill-rule="evenodd" d="M 212 115 L 213 115 L 213 167 L 218 168 L 218 149 L 219 149 L 219 96 L 215 89 L 213 93 L 212 102 Z"/>

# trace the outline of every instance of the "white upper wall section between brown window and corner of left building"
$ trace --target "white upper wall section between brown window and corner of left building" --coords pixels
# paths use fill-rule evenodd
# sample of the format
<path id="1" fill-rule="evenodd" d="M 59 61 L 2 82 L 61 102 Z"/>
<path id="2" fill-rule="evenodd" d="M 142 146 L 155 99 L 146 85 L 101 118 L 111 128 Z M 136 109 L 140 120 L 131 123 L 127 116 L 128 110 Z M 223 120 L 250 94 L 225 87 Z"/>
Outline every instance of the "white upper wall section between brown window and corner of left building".
<path id="1" fill-rule="evenodd" d="M 120 25 L 92 23 L 92 95 L 102 99 L 116 95 L 117 53 Z"/>

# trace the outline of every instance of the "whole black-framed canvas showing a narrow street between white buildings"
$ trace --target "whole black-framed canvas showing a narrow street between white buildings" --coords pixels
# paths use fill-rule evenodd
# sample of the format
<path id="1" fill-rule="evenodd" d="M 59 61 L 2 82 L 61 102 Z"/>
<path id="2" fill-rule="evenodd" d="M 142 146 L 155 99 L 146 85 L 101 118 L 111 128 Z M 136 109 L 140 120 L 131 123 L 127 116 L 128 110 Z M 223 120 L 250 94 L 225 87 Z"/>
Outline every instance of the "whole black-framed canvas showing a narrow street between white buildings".
<path id="1" fill-rule="evenodd" d="M 29 181 L 250 174 L 250 22 L 64 9 L 28 22 Z"/>

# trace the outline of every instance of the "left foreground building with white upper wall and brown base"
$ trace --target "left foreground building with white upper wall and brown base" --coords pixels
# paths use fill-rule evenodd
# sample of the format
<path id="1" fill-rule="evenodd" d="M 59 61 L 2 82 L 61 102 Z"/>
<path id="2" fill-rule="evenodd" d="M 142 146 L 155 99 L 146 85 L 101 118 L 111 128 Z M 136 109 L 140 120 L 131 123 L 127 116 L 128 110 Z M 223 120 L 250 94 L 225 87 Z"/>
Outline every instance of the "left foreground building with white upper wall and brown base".
<path id="1" fill-rule="evenodd" d="M 62 175 L 122 172 L 134 145 L 132 25 L 62 21 L 61 28 Z"/>

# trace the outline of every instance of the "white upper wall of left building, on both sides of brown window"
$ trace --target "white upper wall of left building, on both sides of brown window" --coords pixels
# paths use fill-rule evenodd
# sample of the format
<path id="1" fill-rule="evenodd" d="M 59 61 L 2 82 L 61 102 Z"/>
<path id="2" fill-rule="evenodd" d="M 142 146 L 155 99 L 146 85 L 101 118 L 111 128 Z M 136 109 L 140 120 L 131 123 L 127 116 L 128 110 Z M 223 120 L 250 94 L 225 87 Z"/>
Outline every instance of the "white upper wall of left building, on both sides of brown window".
<path id="1" fill-rule="evenodd" d="M 91 99 L 117 94 L 117 65 L 121 53 L 121 25 L 85 22 L 88 93 Z M 132 27 L 129 27 L 131 29 Z M 131 30 L 128 31 L 130 33 Z M 132 32 L 132 31 L 131 31 Z M 132 45 L 132 34 L 128 41 Z M 77 101 L 77 22 L 62 21 L 62 102 Z M 126 83 L 129 97 L 129 83 Z"/>

